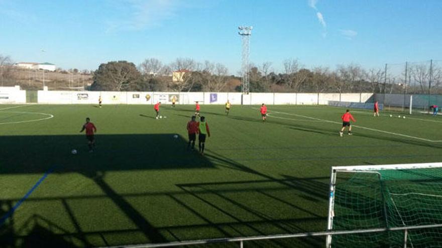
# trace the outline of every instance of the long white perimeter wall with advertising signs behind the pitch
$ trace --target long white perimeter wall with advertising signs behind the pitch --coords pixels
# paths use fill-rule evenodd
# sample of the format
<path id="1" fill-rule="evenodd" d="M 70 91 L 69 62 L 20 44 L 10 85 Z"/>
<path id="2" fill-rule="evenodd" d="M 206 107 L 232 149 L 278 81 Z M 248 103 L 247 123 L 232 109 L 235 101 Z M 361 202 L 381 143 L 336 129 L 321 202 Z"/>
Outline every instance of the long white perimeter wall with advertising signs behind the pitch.
<path id="1" fill-rule="evenodd" d="M 0 87 L 0 93 L 1 93 Z M 50 104 L 97 104 L 101 96 L 103 104 L 171 104 L 176 98 L 177 104 L 232 104 L 260 105 L 297 104 L 326 105 L 328 101 L 365 102 L 372 93 L 250 93 L 237 92 L 111 92 L 111 91 L 39 91 L 38 102 Z M 1 96 L 1 95 L 0 95 Z M 24 95 L 26 101 L 26 94 Z"/>

